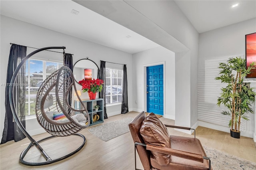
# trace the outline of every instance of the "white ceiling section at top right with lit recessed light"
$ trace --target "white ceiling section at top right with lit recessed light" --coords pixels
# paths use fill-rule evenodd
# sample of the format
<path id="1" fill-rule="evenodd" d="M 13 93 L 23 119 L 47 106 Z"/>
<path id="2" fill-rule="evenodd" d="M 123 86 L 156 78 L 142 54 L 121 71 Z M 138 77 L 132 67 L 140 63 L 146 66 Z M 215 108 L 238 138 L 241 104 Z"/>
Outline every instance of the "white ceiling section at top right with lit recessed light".
<path id="1" fill-rule="evenodd" d="M 199 33 L 256 18 L 256 0 L 176 0 L 175 2 Z M 236 3 L 239 3 L 238 6 L 232 8 Z"/>

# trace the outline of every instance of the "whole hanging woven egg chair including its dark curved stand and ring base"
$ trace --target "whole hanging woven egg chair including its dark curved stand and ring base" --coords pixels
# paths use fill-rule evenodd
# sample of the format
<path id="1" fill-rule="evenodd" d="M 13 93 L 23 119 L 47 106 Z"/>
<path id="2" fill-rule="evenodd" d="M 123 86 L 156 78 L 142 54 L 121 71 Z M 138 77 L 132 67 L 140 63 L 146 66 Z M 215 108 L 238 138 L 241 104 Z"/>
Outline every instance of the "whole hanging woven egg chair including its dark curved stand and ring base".
<path id="1" fill-rule="evenodd" d="M 45 47 L 42 49 L 38 49 L 29 55 L 27 55 L 18 65 L 16 70 L 13 73 L 12 79 L 10 83 L 14 83 L 16 81 L 16 77 L 21 67 L 26 63 L 26 60 L 30 58 L 35 53 L 38 53 L 47 49 L 65 49 L 65 47 Z M 63 52 L 64 53 L 64 52 Z M 80 101 L 80 105 L 82 106 L 81 110 L 73 109 L 70 106 L 69 97 L 71 97 L 72 89 L 75 91 L 78 100 Z M 23 152 L 20 154 L 20 162 L 25 165 L 38 166 L 51 164 L 53 162 L 57 162 L 72 156 L 76 152 L 78 152 L 85 144 L 86 138 L 82 134 L 78 134 L 80 130 L 88 127 L 90 125 L 90 116 L 84 104 L 82 103 L 79 95 L 76 91 L 74 75 L 70 68 L 63 66 L 59 70 L 52 73 L 40 86 L 38 90 L 38 94 L 36 96 L 36 118 L 39 124 L 52 136 L 41 140 L 34 140 L 30 134 L 23 127 L 22 123 L 18 119 L 18 114 L 14 105 L 14 88 L 10 87 L 10 106 L 12 109 L 12 114 L 14 120 L 16 121 L 18 127 L 22 130 L 22 132 L 28 137 L 30 140 L 30 144 Z M 54 115 L 61 115 L 64 119 L 54 120 Z M 66 118 L 65 118 L 66 117 Z M 60 158 L 54 158 L 53 160 L 50 156 L 44 151 L 44 149 L 40 146 L 40 142 L 48 140 L 50 138 L 54 138 L 56 136 L 70 136 L 76 135 L 83 139 L 82 144 L 73 152 L 62 156 Z M 54 143 L 53 143 L 54 144 Z M 35 146 L 42 156 L 46 159 L 44 162 L 27 162 L 24 160 L 24 157 L 28 153 L 28 150 Z M 54 157 L 54 156 L 53 156 Z"/>

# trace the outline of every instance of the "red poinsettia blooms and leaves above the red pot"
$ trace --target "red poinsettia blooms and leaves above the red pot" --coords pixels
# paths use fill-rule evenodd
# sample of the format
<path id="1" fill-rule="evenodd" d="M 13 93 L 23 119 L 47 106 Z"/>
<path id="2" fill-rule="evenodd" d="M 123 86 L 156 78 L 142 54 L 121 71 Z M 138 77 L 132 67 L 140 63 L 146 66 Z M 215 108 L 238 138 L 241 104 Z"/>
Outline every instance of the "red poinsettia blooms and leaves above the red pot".
<path id="1" fill-rule="evenodd" d="M 82 85 L 83 92 L 87 91 L 88 93 L 90 92 L 96 93 L 96 92 L 102 91 L 104 81 L 101 79 L 93 79 L 93 80 L 82 79 L 81 81 L 78 81 L 78 83 Z"/>

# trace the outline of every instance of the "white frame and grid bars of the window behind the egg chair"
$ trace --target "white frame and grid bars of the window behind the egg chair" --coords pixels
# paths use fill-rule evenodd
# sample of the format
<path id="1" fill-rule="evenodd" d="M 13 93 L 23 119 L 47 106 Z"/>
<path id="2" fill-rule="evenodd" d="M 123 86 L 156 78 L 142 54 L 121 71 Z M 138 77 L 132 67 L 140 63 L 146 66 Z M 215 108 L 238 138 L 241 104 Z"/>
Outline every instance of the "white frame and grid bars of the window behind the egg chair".
<path id="1" fill-rule="evenodd" d="M 30 72 L 30 61 L 31 60 L 36 60 L 36 61 L 42 61 L 42 66 L 43 66 L 43 73 L 31 73 Z M 49 63 L 57 63 L 57 69 L 60 69 L 60 65 L 61 67 L 64 66 L 63 62 L 62 61 L 54 61 L 54 60 L 50 60 L 50 59 L 39 59 L 39 58 L 29 58 L 28 60 L 28 72 L 25 72 L 25 74 L 28 74 L 28 82 L 26 82 L 26 86 L 25 86 L 25 89 L 28 90 L 28 94 L 26 94 L 25 92 L 25 95 L 27 96 L 28 95 L 28 101 L 25 100 L 25 105 L 28 103 L 28 109 L 25 110 L 26 113 L 28 113 L 28 115 L 26 115 L 26 120 L 28 119 L 34 119 L 36 117 L 36 112 L 34 114 L 31 114 L 31 110 L 30 110 L 30 105 L 31 103 L 35 103 L 35 100 L 31 100 L 31 89 L 39 89 L 39 87 L 34 87 L 34 86 L 31 86 L 31 81 L 30 81 L 30 75 L 31 74 L 35 74 L 35 75 L 42 75 L 42 81 L 44 81 L 47 77 L 47 75 L 51 75 L 52 73 L 46 73 L 46 63 L 49 62 Z M 25 107 L 26 108 L 26 107 Z"/>

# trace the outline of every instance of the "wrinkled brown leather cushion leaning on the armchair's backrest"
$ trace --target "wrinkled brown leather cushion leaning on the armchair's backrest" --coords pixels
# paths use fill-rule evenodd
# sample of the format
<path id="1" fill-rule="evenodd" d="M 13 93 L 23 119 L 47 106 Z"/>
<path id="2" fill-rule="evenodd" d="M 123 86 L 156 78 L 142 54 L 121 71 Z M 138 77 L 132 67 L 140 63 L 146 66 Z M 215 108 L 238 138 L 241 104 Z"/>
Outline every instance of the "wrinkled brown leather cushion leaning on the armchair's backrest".
<path id="1" fill-rule="evenodd" d="M 154 113 L 148 114 L 144 119 L 140 127 L 140 134 L 146 144 L 171 147 L 168 130 Z M 152 151 L 152 156 L 159 165 L 168 165 L 170 162 L 170 155 L 168 154 Z"/>

